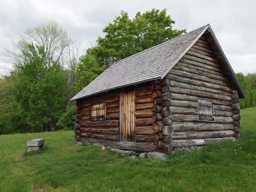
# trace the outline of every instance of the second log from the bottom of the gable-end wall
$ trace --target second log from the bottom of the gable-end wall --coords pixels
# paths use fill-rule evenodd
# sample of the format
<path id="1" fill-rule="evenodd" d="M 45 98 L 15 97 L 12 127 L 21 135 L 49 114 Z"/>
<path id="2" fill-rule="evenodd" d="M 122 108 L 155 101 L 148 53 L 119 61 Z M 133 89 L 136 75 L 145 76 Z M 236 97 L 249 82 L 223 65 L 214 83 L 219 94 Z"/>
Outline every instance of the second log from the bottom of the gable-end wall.
<path id="1" fill-rule="evenodd" d="M 206 138 L 222 138 L 233 137 L 234 131 L 208 131 L 208 132 L 174 132 L 172 140 L 176 139 L 206 139 Z"/>

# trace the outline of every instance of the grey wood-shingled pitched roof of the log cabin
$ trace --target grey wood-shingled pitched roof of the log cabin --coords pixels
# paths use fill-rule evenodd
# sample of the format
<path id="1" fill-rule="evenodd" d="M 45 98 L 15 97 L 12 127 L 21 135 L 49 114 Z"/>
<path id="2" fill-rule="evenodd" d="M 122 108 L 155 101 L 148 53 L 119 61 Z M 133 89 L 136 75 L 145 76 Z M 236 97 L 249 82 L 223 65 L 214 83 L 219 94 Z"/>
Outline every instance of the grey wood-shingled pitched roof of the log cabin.
<path id="1" fill-rule="evenodd" d="M 141 82 L 163 79 L 207 29 L 212 33 L 212 36 L 215 37 L 210 26 L 206 25 L 113 63 L 111 67 L 103 71 L 71 100 L 131 86 Z M 216 37 L 214 39 L 216 39 Z M 219 45 L 218 41 L 217 45 Z M 222 50 L 221 52 L 224 58 L 226 58 Z M 227 61 L 227 59 L 225 60 Z M 242 92 L 242 95 L 245 97 L 228 61 L 227 66 L 240 92 Z"/>

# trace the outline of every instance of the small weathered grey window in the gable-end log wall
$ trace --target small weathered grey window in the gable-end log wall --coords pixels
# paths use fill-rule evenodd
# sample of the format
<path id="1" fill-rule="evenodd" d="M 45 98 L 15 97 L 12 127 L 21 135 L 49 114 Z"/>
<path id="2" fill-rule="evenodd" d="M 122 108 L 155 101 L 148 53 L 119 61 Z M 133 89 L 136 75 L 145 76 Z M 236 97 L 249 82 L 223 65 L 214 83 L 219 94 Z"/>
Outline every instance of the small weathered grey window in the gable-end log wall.
<path id="1" fill-rule="evenodd" d="M 200 120 L 213 121 L 211 100 L 198 99 L 198 115 Z"/>

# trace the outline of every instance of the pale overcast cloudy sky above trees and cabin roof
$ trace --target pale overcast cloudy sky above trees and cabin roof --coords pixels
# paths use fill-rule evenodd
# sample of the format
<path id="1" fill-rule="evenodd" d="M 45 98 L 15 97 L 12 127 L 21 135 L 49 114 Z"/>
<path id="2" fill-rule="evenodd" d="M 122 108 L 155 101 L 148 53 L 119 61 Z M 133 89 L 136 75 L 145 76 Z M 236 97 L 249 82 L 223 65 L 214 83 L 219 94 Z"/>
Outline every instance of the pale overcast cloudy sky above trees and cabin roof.
<path id="1" fill-rule="evenodd" d="M 0 5 L 0 75 L 12 69 L 6 50 L 27 28 L 55 20 L 86 50 L 121 10 L 133 18 L 153 8 L 167 9 L 176 22 L 173 29 L 191 31 L 210 24 L 234 72 L 256 72 L 256 1 L 0 0 Z"/>

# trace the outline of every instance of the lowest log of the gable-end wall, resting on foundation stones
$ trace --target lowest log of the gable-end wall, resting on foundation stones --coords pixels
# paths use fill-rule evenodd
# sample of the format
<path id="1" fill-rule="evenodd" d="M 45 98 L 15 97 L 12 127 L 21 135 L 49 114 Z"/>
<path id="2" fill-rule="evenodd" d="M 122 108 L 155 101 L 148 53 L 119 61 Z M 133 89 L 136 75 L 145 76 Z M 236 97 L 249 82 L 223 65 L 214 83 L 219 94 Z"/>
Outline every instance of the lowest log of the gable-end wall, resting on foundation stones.
<path id="1" fill-rule="evenodd" d="M 234 141 L 234 137 L 224 138 L 210 138 L 210 139 L 184 139 L 184 140 L 172 140 L 174 147 L 185 147 L 185 146 L 204 146 L 209 143 L 218 143 L 223 141 Z"/>

